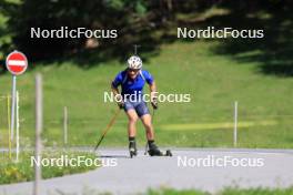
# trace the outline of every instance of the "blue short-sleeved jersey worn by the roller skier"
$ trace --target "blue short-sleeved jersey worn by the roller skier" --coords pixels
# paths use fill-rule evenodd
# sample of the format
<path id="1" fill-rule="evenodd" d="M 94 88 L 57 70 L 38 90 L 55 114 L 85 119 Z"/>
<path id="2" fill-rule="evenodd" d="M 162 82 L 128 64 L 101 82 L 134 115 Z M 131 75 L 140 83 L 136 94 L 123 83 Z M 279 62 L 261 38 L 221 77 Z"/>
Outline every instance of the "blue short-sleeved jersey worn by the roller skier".
<path id="1" fill-rule="evenodd" d="M 128 76 L 128 70 L 124 70 L 117 74 L 114 81 L 112 82 L 112 85 L 114 88 L 118 88 L 119 85 L 121 85 L 122 95 L 135 94 L 135 93 L 142 94 L 145 82 L 148 82 L 148 84 L 153 83 L 153 78 L 148 71 L 141 70 L 141 72 L 139 72 L 137 78 L 132 80 Z"/>

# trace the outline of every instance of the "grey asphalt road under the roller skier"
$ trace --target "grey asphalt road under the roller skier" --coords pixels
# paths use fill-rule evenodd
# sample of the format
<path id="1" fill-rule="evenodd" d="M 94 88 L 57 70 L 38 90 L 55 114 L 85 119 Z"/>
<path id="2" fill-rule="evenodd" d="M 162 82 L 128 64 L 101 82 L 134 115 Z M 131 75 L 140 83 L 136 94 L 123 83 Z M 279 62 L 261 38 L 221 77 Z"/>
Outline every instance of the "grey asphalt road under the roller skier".
<path id="1" fill-rule="evenodd" d="M 172 157 L 150 157 L 140 151 L 139 156 L 129 158 L 127 150 L 102 150 L 100 155 L 109 166 L 44 179 L 41 194 L 137 194 L 159 187 L 218 192 L 225 186 L 293 185 L 292 150 L 173 148 L 172 152 Z M 0 194 L 31 195 L 32 186 L 32 182 L 0 185 Z"/>

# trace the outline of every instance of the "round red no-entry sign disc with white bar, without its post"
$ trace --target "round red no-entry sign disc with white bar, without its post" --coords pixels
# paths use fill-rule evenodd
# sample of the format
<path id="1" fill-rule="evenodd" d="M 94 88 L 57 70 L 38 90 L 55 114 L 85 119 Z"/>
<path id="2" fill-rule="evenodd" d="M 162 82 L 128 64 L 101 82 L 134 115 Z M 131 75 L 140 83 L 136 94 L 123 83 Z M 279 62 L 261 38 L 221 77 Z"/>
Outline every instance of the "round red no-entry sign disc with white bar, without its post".
<path id="1" fill-rule="evenodd" d="M 13 75 L 20 75 L 28 68 L 28 59 L 23 53 L 13 51 L 7 57 L 6 65 Z"/>

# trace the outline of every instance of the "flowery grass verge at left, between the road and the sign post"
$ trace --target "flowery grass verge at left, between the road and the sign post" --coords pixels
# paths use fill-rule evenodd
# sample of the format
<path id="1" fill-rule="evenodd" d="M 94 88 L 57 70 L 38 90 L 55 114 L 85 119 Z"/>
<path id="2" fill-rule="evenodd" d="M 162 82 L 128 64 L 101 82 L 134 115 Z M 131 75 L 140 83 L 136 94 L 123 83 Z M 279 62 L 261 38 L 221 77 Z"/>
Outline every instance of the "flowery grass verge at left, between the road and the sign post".
<path id="1" fill-rule="evenodd" d="M 12 160 L 8 158 L 8 154 L 1 156 L 0 161 L 0 184 L 12 184 L 19 182 L 29 182 L 34 178 L 34 167 L 31 166 L 32 153 L 20 153 L 19 162 L 16 162 L 16 154 L 12 154 Z M 84 152 L 61 152 L 61 151 L 47 151 L 42 154 L 42 158 L 60 158 L 61 156 L 68 158 L 84 158 L 94 160 L 94 154 Z M 42 166 L 42 178 L 59 177 L 63 175 L 82 173 L 94 170 L 97 166 L 85 166 L 83 163 L 80 166 Z"/>

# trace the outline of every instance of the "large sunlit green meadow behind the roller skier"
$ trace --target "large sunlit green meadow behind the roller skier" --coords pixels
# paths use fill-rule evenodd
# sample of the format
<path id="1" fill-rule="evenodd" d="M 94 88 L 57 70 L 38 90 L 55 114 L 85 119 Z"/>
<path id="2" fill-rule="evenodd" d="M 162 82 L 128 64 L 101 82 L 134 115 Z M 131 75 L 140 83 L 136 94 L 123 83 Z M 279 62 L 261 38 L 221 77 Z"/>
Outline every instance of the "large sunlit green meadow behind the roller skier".
<path id="1" fill-rule="evenodd" d="M 213 50 L 219 47 L 221 42 L 198 40 L 162 44 L 156 55 L 144 61 L 160 93 L 191 94 L 190 103 L 160 104 L 154 116 L 159 145 L 231 147 L 233 104 L 238 101 L 239 122 L 244 124 L 239 127 L 240 147 L 293 147 L 293 78 L 263 74 L 257 62 L 215 54 Z M 34 69 L 18 78 L 20 135 L 26 141 L 21 144 L 31 144 L 34 136 L 36 72 L 43 75 L 44 143 L 62 145 L 62 112 L 68 106 L 69 144 L 90 146 L 117 110 L 114 103 L 103 102 L 103 92 L 110 91 L 110 81 L 123 65 L 115 59 L 89 68 L 70 60 L 30 64 Z M 0 75 L 0 83 L 1 95 L 9 93 L 11 75 Z M 6 103 L 0 104 L 0 143 L 7 146 Z M 141 124 L 138 127 L 139 146 L 143 146 L 144 131 Z M 127 117 L 121 113 L 102 145 L 127 146 Z"/>

